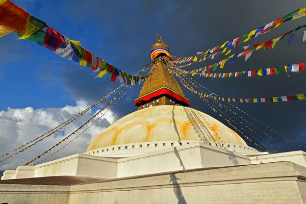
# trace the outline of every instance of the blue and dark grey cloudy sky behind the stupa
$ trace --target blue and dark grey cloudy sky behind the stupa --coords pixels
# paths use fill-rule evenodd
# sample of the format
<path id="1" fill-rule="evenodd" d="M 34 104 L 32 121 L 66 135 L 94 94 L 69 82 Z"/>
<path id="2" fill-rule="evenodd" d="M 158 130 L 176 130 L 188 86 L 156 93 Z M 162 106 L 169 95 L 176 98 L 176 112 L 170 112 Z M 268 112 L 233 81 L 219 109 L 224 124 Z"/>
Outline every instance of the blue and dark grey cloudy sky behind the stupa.
<path id="1" fill-rule="evenodd" d="M 150 61 L 149 47 L 156 42 L 158 34 L 169 45 L 172 55 L 185 57 L 232 40 L 306 6 L 302 0 L 13 2 L 69 39 L 81 41 L 82 45 L 96 56 L 131 74 L 135 74 Z M 269 40 L 304 23 L 305 17 L 288 21 L 280 28 L 243 45 Z M 302 33 L 299 33 L 290 45 L 285 38 L 278 42 L 274 49 L 254 52 L 246 62 L 240 58 L 235 64 L 225 65 L 222 72 L 305 62 L 305 46 Z M 219 60 L 220 58 L 216 61 Z M 199 68 L 216 61 L 207 60 L 186 69 Z M 306 85 L 303 83 L 305 76 L 306 72 L 301 72 L 288 77 L 282 71 L 281 74 L 266 77 L 194 79 L 223 97 L 257 98 L 306 93 Z M 112 83 L 105 78 L 93 79 L 94 77 L 89 68 L 62 59 L 35 42 L 18 40 L 14 34 L 0 38 L 0 154 L 3 155 L 53 129 L 119 86 L 119 82 Z M 134 99 L 137 98 L 140 88 L 141 86 L 133 87 L 104 120 L 60 151 L 55 159 L 84 152 L 90 141 L 110 123 L 136 111 Z M 190 99 L 191 108 L 224 122 L 196 95 L 185 88 L 183 91 Z M 235 105 L 306 146 L 305 103 L 290 101 Z M 264 129 L 264 126 L 250 120 L 241 112 L 237 113 L 292 149 L 301 149 L 284 137 Z M 88 118 L 89 115 L 55 137 L 0 163 L 0 170 L 15 169 L 40 155 Z M 273 144 L 281 150 L 286 150 L 283 145 Z"/>

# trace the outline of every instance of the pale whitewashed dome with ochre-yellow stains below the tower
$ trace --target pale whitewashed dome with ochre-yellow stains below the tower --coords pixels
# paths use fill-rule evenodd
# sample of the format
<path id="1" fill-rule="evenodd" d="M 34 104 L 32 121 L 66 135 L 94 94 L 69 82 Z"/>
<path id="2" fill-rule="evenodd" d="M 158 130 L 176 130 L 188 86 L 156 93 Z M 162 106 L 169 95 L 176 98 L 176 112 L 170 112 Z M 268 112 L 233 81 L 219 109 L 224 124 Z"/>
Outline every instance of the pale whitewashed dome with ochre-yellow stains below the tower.
<path id="1" fill-rule="evenodd" d="M 155 106 L 126 115 L 99 134 L 86 151 L 152 141 L 203 140 L 247 146 L 234 131 L 215 118 L 188 107 Z"/>

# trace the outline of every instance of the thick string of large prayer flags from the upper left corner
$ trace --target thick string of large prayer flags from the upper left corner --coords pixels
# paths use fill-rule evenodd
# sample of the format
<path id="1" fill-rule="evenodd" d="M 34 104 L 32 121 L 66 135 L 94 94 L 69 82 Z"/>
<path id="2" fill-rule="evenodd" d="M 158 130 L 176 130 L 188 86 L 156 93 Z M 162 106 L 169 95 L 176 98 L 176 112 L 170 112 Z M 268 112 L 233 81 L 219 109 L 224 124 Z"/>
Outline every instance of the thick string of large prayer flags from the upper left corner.
<path id="1" fill-rule="evenodd" d="M 109 72 L 107 79 L 111 78 L 112 82 L 115 82 L 120 76 L 119 79 L 124 83 L 135 85 L 145 81 L 150 75 L 148 73 L 138 77 L 119 70 L 83 48 L 80 42 L 69 40 L 58 31 L 50 28 L 45 22 L 13 4 L 10 0 L 0 0 L 0 26 L 0 37 L 13 31 L 19 39 L 35 41 L 40 46 L 43 45 L 67 60 L 73 60 L 80 63 L 81 66 L 101 71 L 101 74 L 98 75 L 99 78 Z"/>

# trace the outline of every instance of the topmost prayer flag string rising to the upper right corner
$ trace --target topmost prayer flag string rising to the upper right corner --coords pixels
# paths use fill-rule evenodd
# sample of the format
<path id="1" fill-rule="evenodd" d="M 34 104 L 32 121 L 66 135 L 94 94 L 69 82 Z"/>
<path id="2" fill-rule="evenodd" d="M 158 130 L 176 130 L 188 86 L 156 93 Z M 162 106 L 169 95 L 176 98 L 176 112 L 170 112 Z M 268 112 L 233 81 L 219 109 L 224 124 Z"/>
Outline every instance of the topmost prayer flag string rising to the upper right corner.
<path id="1" fill-rule="evenodd" d="M 296 12 L 297 12 L 297 14 L 294 15 L 294 13 L 296 13 Z M 246 42 L 246 41 L 250 40 L 251 38 L 256 38 L 261 34 L 267 33 L 272 29 L 278 28 L 280 25 L 282 25 L 286 21 L 295 20 L 295 19 L 301 18 L 305 15 L 306 15 L 306 7 L 301 8 L 301 9 L 297 9 L 295 11 L 290 12 L 289 14 L 285 15 L 282 18 L 274 20 L 274 21 L 272 21 L 272 22 L 270 22 L 270 23 L 268 23 L 268 24 L 266 24 L 266 25 L 264 25 L 264 26 L 262 26 L 258 29 L 250 31 L 249 33 L 241 35 L 241 36 L 235 38 L 234 40 L 231 40 L 231 41 L 227 40 L 226 42 L 224 42 L 223 44 L 221 44 L 219 46 L 216 46 L 212 49 L 208 49 L 206 52 L 197 52 L 196 56 L 200 56 L 200 58 L 203 59 L 203 58 L 207 57 L 206 54 L 208 54 L 208 53 L 212 54 L 218 48 L 225 47 L 225 45 L 226 45 L 226 47 L 225 47 L 226 49 L 235 48 L 238 44 L 240 44 L 242 42 Z M 174 56 L 174 57 L 177 57 L 177 56 Z"/>

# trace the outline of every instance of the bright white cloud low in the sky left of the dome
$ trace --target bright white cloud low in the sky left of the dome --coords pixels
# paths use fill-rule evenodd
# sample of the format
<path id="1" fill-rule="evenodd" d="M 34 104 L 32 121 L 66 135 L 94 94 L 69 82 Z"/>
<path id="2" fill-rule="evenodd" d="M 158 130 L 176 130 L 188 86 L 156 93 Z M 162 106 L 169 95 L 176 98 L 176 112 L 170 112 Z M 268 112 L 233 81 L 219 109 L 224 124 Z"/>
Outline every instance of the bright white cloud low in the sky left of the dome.
<path id="1" fill-rule="evenodd" d="M 8 108 L 7 111 L 0 111 L 0 156 L 48 132 L 62 122 L 73 117 L 75 114 L 85 110 L 88 106 L 89 104 L 81 100 L 77 101 L 76 106 L 65 106 L 63 108 L 34 110 L 32 107 L 28 107 L 24 109 Z M 80 127 L 93 115 L 93 112 L 96 111 L 89 111 L 86 115 L 83 115 L 79 119 L 67 125 L 63 131 L 59 131 L 41 142 L 38 142 L 28 150 L 20 152 L 18 155 L 1 162 L 0 170 L 16 169 L 17 166 L 23 165 L 39 156 L 42 154 L 42 152 L 46 151 Z M 91 126 L 90 129 L 87 130 L 82 136 L 59 151 L 54 156 L 54 159 L 84 152 L 89 143 L 115 120 L 116 115 L 112 111 L 108 111 L 102 119 L 96 122 L 95 125 Z M 81 131 L 78 133 L 80 134 L 83 132 L 86 127 L 87 126 L 81 129 Z M 72 135 L 69 140 L 64 141 L 57 148 L 54 148 L 52 151 L 48 152 L 48 154 L 41 157 L 40 160 L 49 156 L 54 151 L 57 151 L 76 136 L 77 134 Z M 4 158 L 0 158 L 0 160 Z M 36 160 L 35 162 L 40 160 Z M 46 161 L 50 161 L 50 159 Z"/>

